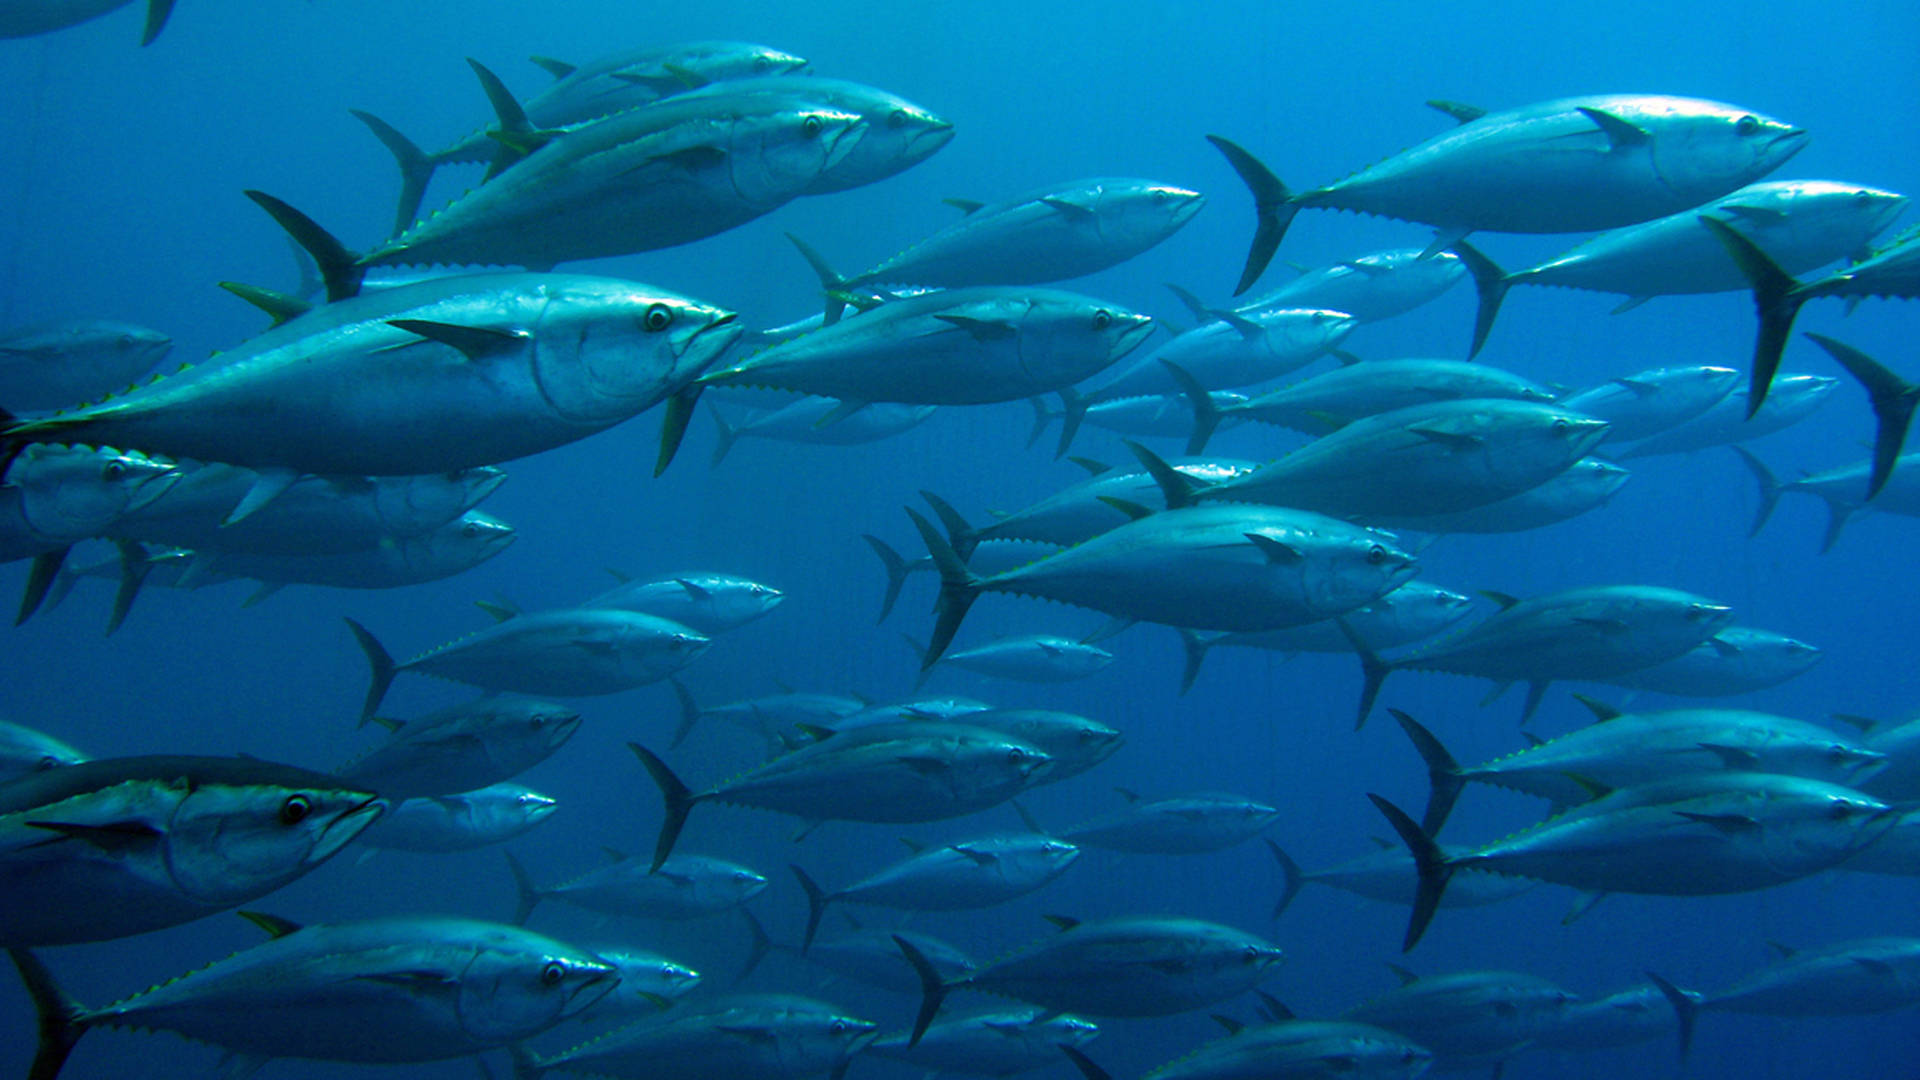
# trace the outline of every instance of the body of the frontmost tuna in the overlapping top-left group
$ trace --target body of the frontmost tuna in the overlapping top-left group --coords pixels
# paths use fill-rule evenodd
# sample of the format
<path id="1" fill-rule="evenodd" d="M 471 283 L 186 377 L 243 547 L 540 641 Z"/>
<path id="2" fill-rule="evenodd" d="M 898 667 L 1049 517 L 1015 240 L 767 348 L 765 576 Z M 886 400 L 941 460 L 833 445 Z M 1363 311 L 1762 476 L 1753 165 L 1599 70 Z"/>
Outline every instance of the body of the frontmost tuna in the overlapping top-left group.
<path id="1" fill-rule="evenodd" d="M 774 94 L 668 98 L 553 133 L 359 265 L 551 267 L 687 244 L 785 206 L 866 127 Z"/>

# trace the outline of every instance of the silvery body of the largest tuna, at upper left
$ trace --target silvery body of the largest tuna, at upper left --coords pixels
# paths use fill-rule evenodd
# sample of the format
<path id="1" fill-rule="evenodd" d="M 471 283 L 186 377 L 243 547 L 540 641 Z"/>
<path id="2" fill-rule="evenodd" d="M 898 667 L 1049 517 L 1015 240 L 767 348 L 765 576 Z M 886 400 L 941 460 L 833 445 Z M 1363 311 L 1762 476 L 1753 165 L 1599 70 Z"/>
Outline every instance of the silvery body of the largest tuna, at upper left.
<path id="1" fill-rule="evenodd" d="M 737 334 L 730 311 L 630 281 L 457 275 L 324 304 L 200 367 L 8 425 L 0 442 L 319 475 L 451 473 L 630 419 Z"/>

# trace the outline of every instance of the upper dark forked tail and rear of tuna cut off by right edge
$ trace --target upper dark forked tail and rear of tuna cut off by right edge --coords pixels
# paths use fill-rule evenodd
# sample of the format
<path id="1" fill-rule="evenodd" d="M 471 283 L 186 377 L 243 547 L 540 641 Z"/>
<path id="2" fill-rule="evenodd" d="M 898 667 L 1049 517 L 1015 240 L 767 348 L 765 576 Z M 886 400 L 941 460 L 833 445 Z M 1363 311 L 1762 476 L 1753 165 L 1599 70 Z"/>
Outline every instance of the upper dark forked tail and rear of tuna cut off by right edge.
<path id="1" fill-rule="evenodd" d="M 1766 404 L 1766 388 L 1780 371 L 1780 354 L 1788 348 L 1788 334 L 1793 332 L 1793 319 L 1799 317 L 1803 304 L 1820 296 L 1845 296 L 1849 304 L 1870 296 L 1920 298 L 1920 229 L 1908 229 L 1872 256 L 1826 277 L 1793 281 L 1766 252 L 1732 227 L 1711 217 L 1701 219 L 1701 225 L 1726 244 L 1728 254 L 1740 263 L 1740 273 L 1747 275 L 1753 306 L 1761 317 L 1759 336 L 1753 342 L 1747 415 Z"/>

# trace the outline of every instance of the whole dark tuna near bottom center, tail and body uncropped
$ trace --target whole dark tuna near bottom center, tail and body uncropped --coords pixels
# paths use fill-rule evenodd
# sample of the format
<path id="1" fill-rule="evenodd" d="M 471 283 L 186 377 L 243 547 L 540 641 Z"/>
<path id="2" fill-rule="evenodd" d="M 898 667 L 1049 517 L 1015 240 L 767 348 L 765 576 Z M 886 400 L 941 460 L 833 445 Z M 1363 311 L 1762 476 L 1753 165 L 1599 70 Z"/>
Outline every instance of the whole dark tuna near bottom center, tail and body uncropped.
<path id="1" fill-rule="evenodd" d="M 920 1017 L 906 1045 L 927 1032 L 954 990 L 985 990 L 1060 1013 L 1171 1017 L 1260 986 L 1281 949 L 1254 934 L 1198 919 L 1129 917 L 1079 922 L 1054 917 L 1044 938 L 964 978 L 943 980 L 910 942 L 895 942 L 920 974 Z"/>

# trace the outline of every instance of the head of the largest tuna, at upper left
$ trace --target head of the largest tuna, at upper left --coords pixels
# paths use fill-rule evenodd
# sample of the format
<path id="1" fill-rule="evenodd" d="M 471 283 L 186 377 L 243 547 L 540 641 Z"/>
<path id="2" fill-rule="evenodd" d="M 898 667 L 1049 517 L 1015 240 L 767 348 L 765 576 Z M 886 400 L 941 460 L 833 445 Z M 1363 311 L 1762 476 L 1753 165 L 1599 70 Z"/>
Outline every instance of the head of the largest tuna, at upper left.
<path id="1" fill-rule="evenodd" d="M 568 423 L 603 427 L 657 405 L 743 331 L 732 311 L 651 284 L 568 277 L 541 288 L 534 380 Z"/>

